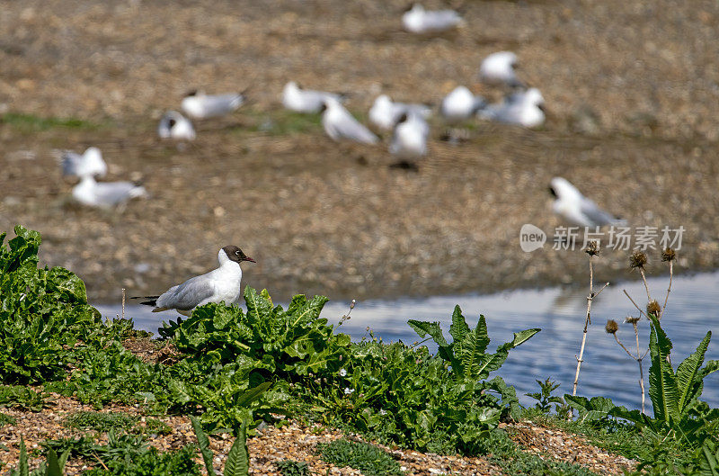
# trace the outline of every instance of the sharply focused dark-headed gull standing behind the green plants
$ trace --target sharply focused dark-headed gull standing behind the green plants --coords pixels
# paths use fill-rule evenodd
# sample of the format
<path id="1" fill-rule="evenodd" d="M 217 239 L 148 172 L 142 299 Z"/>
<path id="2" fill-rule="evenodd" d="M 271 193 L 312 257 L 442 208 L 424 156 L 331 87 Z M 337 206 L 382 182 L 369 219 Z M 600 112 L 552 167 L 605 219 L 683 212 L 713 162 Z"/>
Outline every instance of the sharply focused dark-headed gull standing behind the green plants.
<path id="1" fill-rule="evenodd" d="M 189 316 L 191 310 L 209 302 L 225 301 L 226 305 L 236 304 L 240 301 L 242 290 L 242 269 L 240 263 L 253 258 L 245 256 L 242 250 L 235 246 L 223 247 L 217 253 L 219 267 L 206 274 L 195 276 L 182 284 L 173 286 L 159 296 L 133 297 L 132 299 L 149 299 L 140 304 L 153 306 L 153 312 L 162 310 L 177 310 Z"/>

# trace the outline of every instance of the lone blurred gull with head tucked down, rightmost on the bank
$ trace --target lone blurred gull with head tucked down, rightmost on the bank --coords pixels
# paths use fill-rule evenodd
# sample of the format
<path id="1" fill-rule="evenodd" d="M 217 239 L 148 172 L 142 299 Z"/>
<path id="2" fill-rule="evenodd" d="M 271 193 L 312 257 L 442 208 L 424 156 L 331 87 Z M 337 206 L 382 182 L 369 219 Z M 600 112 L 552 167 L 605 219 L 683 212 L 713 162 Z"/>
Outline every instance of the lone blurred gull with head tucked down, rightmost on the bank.
<path id="1" fill-rule="evenodd" d="M 555 177 L 549 185 L 549 192 L 555 196 L 552 210 L 580 227 L 600 227 L 602 225 L 623 225 L 625 220 L 620 220 L 608 211 L 603 211 L 597 203 L 580 193 L 579 190 L 569 181 L 562 177 Z"/>

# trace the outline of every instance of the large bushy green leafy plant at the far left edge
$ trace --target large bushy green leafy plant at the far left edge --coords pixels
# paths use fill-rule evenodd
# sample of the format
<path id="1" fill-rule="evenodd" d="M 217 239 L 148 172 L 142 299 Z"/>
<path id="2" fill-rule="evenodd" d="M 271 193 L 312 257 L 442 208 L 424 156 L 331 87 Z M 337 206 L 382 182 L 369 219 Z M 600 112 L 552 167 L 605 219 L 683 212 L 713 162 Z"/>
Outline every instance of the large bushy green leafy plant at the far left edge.
<path id="1" fill-rule="evenodd" d="M 0 378 L 36 383 L 62 377 L 69 349 L 101 323 L 84 283 L 65 268 L 38 268 L 40 233 L 0 234 Z"/>

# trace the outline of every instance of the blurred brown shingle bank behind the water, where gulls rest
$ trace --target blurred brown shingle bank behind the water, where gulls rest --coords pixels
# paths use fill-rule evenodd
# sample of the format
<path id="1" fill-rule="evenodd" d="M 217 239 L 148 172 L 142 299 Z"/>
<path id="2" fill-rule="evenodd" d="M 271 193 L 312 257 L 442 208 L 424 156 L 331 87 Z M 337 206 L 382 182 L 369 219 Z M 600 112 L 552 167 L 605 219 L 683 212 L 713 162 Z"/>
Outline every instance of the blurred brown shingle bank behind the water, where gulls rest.
<path id="1" fill-rule="evenodd" d="M 432 38 L 399 30 L 401 6 L 5 2 L 0 230 L 40 230 L 43 263 L 75 271 L 94 301 L 162 292 L 214 267 L 227 244 L 257 260 L 244 283 L 277 296 L 585 283 L 581 252 L 519 248 L 523 224 L 550 241 L 563 224 L 546 193 L 563 175 L 634 228 L 684 227 L 679 273 L 719 265 L 716 4 L 473 2 L 466 28 Z M 542 89 L 546 126 L 478 122 L 451 145 L 435 121 L 419 172 L 389 167 L 387 138 L 337 145 L 278 100 L 290 78 L 350 91 L 359 114 L 380 92 L 439 103 L 466 84 L 498 98 L 474 82 L 499 49 Z M 199 123 L 185 147 L 156 139 L 159 114 L 198 86 L 250 87 L 253 101 Z M 142 179 L 151 199 L 116 211 L 69 202 L 54 150 L 89 145 L 108 180 Z M 627 255 L 607 251 L 598 279 L 633 278 Z M 658 251 L 649 271 L 665 271 Z"/>

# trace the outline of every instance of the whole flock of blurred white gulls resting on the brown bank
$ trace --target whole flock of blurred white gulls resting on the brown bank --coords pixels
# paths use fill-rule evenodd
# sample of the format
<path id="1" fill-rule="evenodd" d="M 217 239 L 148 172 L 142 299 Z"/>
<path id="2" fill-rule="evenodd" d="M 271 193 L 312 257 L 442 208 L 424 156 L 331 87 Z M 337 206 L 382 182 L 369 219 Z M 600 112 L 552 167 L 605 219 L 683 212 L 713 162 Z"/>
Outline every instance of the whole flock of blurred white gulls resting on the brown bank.
<path id="1" fill-rule="evenodd" d="M 436 33 L 456 28 L 464 23 L 453 10 L 425 10 L 414 4 L 402 17 L 404 29 L 418 34 Z M 516 124 L 535 128 L 545 121 L 545 100 L 536 87 L 529 87 L 517 76 L 517 55 L 511 51 L 498 51 L 484 58 L 477 76 L 485 85 L 502 88 L 504 98 L 500 103 L 488 103 L 464 85 L 458 85 L 439 104 L 441 120 L 447 125 L 461 124 L 479 119 Z M 193 91 L 180 103 L 180 110 L 165 112 L 157 128 L 162 139 L 189 141 L 197 134 L 192 121 L 230 114 L 239 109 L 247 98 L 243 93 L 206 94 Z M 343 103 L 345 97 L 312 89 L 305 89 L 289 81 L 281 92 L 282 105 L 293 112 L 321 113 L 322 126 L 328 137 L 335 141 L 351 140 L 377 145 L 377 131 L 391 131 L 388 150 L 397 157 L 399 165 L 417 168 L 419 159 L 427 155 L 427 139 L 430 135 L 428 120 L 434 113 L 424 103 L 394 102 L 387 94 L 377 96 L 368 111 L 370 127 L 358 121 Z M 370 129 L 371 128 L 371 129 Z M 66 151 L 62 155 L 64 175 L 79 177 L 73 188 L 77 202 L 95 207 L 113 207 L 129 199 L 145 197 L 144 187 L 131 182 L 98 182 L 97 177 L 107 173 L 98 148 L 88 148 L 84 154 Z M 603 225 L 617 219 L 599 210 L 593 202 L 585 199 L 579 191 L 564 179 L 555 179 L 551 189 L 555 194 L 555 212 L 565 220 L 581 226 Z"/>

